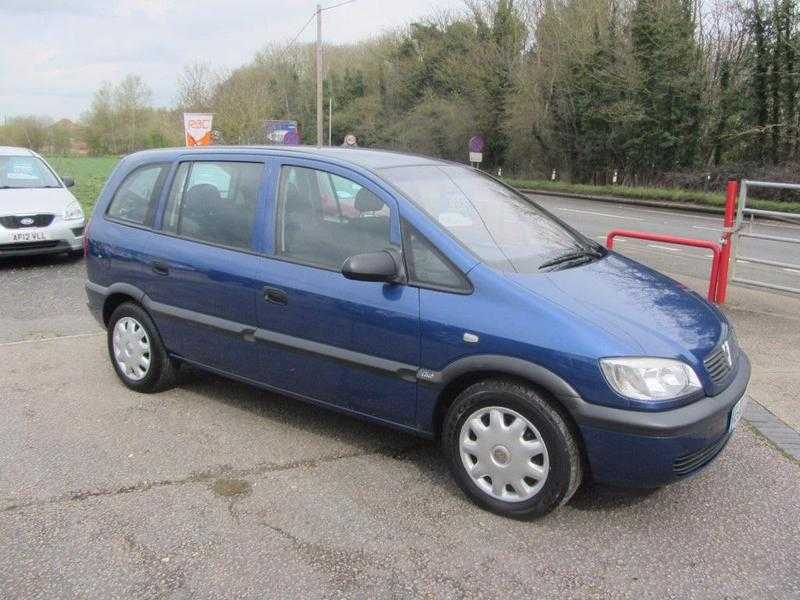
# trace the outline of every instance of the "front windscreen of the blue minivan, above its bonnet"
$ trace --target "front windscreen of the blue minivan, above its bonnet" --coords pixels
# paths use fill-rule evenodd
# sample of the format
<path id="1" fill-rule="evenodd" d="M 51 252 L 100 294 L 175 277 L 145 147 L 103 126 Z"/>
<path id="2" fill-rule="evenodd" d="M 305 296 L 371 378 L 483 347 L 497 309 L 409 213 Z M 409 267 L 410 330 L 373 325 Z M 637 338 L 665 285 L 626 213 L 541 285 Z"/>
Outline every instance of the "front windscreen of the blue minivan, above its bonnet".
<path id="1" fill-rule="evenodd" d="M 381 175 L 495 269 L 534 273 L 588 245 L 532 202 L 471 169 L 394 167 Z"/>

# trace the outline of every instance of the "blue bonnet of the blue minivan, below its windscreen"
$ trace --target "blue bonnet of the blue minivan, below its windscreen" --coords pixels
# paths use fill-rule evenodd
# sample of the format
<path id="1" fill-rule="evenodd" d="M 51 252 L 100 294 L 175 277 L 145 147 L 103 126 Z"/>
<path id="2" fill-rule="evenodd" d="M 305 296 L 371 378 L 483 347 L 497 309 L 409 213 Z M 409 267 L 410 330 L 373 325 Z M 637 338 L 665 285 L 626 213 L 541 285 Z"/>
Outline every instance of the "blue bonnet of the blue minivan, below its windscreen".
<path id="1" fill-rule="evenodd" d="M 720 313 L 682 284 L 618 254 L 587 265 L 508 274 L 540 298 L 568 310 L 643 356 L 702 359 L 726 327 Z"/>

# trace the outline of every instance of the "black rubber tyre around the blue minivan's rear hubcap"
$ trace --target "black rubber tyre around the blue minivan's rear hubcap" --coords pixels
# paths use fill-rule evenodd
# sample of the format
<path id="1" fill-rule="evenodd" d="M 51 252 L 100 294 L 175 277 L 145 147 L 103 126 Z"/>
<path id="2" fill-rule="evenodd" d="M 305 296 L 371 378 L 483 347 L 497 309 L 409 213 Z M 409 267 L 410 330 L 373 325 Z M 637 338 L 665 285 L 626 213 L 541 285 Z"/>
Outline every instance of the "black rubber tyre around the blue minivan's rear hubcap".
<path id="1" fill-rule="evenodd" d="M 144 374 L 141 379 L 135 379 L 124 372 L 114 356 L 114 329 L 117 323 L 126 317 L 134 319 L 141 325 L 149 341 L 148 354 L 150 364 L 146 374 Z M 167 354 L 155 323 L 153 323 L 147 311 L 138 304 L 125 302 L 114 310 L 111 314 L 111 318 L 108 320 L 107 340 L 108 356 L 114 367 L 114 371 L 116 371 L 122 383 L 130 389 L 145 394 L 152 394 L 166 390 L 175 384 L 178 363 Z"/>

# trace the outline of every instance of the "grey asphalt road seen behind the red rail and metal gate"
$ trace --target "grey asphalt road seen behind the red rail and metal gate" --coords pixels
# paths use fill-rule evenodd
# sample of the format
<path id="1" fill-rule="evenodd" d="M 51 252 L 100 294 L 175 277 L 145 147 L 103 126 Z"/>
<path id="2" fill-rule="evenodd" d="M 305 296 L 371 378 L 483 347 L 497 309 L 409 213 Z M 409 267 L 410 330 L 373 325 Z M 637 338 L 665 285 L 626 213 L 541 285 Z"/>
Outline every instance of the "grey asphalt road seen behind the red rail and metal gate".
<path id="1" fill-rule="evenodd" d="M 612 229 L 634 229 L 715 242 L 722 235 L 721 216 L 556 196 L 530 196 L 603 244 L 606 234 Z M 800 224 L 756 220 L 748 231 L 800 240 Z M 678 275 L 708 279 L 711 270 L 712 254 L 709 250 L 624 238 L 615 241 L 614 249 L 658 270 Z M 797 265 L 797 269 L 741 263 L 736 268 L 737 276 L 800 288 L 800 244 L 742 238 L 739 255 Z"/>

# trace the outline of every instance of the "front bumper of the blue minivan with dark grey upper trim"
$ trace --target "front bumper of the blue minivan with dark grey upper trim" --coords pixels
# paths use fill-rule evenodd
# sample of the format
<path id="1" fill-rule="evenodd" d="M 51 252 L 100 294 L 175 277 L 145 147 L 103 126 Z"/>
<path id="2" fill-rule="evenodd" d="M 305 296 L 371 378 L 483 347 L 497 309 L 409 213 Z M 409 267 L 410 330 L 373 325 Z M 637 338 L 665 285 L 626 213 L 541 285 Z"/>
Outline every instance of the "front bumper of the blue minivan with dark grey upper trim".
<path id="1" fill-rule="evenodd" d="M 738 356 L 736 377 L 720 394 L 662 412 L 596 405 L 576 415 L 595 480 L 657 487 L 687 477 L 710 463 L 730 439 L 734 405 L 750 381 L 750 361 Z"/>

